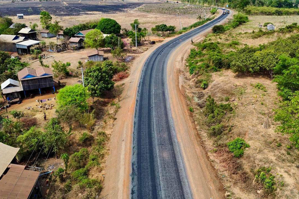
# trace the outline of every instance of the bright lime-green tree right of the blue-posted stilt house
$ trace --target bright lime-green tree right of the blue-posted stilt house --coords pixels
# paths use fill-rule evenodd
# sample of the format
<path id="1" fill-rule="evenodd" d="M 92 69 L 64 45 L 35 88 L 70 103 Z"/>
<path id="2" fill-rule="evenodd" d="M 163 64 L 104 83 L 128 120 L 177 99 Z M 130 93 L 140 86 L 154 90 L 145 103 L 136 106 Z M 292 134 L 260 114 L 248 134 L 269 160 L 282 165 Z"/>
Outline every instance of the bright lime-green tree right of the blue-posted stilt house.
<path id="1" fill-rule="evenodd" d="M 81 111 L 85 111 L 88 108 L 86 100 L 89 96 L 87 87 L 83 87 L 81 84 L 69 85 L 58 91 L 57 102 L 62 107 L 75 105 Z"/>

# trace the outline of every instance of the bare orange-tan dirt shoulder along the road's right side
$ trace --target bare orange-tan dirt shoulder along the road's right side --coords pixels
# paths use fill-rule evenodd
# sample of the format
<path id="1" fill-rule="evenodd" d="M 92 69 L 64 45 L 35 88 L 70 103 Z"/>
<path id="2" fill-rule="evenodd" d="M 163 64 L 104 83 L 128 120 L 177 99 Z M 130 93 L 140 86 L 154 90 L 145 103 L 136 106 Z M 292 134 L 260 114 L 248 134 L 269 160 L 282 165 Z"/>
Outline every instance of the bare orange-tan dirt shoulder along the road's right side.
<path id="1" fill-rule="evenodd" d="M 211 29 L 206 30 L 193 38 L 193 41 L 198 42 L 210 31 Z M 185 67 L 185 59 L 193 47 L 191 41 L 186 42 L 176 49 L 169 58 L 167 68 L 169 103 L 170 107 L 175 107 L 171 109 L 172 119 L 193 197 L 197 199 L 224 198 L 223 185 L 202 145 L 202 140 L 186 103 L 182 68 Z"/>

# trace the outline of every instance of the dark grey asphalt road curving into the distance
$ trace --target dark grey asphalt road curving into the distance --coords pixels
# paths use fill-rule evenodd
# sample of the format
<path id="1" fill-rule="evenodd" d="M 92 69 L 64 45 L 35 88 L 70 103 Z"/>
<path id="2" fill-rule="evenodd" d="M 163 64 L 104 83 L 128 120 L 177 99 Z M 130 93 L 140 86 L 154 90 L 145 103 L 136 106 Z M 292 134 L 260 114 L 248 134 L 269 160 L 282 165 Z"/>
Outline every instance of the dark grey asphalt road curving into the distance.
<path id="1" fill-rule="evenodd" d="M 157 48 L 146 60 L 137 91 L 131 174 L 132 199 L 192 198 L 172 122 L 166 68 L 172 51 L 228 14 Z"/>

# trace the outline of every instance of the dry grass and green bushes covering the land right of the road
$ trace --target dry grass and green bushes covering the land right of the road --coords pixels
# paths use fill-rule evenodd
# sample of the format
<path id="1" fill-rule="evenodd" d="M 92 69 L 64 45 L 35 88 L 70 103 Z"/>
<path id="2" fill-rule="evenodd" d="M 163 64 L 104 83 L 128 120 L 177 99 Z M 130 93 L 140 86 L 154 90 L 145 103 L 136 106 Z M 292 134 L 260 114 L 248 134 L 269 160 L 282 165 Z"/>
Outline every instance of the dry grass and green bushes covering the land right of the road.
<path id="1" fill-rule="evenodd" d="M 245 20 L 226 30 L 237 15 Z M 256 36 L 242 31 L 248 21 L 236 14 L 193 44 L 186 58 L 189 110 L 222 176 L 226 197 L 295 197 L 298 26 L 261 29 L 265 34 Z M 271 38 L 276 35 L 281 38 Z M 243 36 L 252 39 L 244 44 Z"/>

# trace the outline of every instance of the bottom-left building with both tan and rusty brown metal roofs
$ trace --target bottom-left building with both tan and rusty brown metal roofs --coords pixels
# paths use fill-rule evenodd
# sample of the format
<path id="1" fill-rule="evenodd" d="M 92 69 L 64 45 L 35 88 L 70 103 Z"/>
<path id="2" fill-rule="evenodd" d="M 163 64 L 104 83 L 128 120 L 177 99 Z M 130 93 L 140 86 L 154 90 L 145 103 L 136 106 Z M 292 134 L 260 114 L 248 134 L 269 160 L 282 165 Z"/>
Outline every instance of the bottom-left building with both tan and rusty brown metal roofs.
<path id="1" fill-rule="evenodd" d="M 20 148 L 0 142 L 0 198 L 28 199 L 30 195 L 41 196 L 37 179 L 40 168 L 12 164 Z"/>

